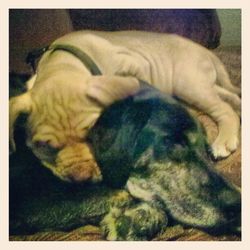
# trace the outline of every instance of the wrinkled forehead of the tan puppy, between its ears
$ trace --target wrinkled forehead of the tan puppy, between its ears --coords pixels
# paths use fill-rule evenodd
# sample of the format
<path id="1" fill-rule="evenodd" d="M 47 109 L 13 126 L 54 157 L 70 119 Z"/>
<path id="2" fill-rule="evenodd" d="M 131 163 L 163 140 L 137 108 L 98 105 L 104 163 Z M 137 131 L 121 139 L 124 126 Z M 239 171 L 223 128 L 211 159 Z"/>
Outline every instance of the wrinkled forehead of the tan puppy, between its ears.
<path id="1" fill-rule="evenodd" d="M 88 99 L 84 90 L 46 86 L 32 93 L 28 130 L 37 140 L 53 137 L 57 143 L 82 139 L 99 117 L 101 108 Z"/>

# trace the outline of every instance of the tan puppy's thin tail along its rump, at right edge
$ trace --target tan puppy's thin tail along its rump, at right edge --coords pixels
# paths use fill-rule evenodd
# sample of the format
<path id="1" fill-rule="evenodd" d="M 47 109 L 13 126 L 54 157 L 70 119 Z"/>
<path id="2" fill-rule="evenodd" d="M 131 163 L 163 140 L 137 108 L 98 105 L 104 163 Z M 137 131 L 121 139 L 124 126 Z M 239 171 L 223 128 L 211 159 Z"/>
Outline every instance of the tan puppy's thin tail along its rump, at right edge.
<path id="1" fill-rule="evenodd" d="M 234 94 L 240 95 L 240 88 L 232 84 L 229 74 L 223 63 L 219 60 L 219 58 L 211 53 L 211 59 L 213 61 L 217 73 L 217 84 Z"/>

